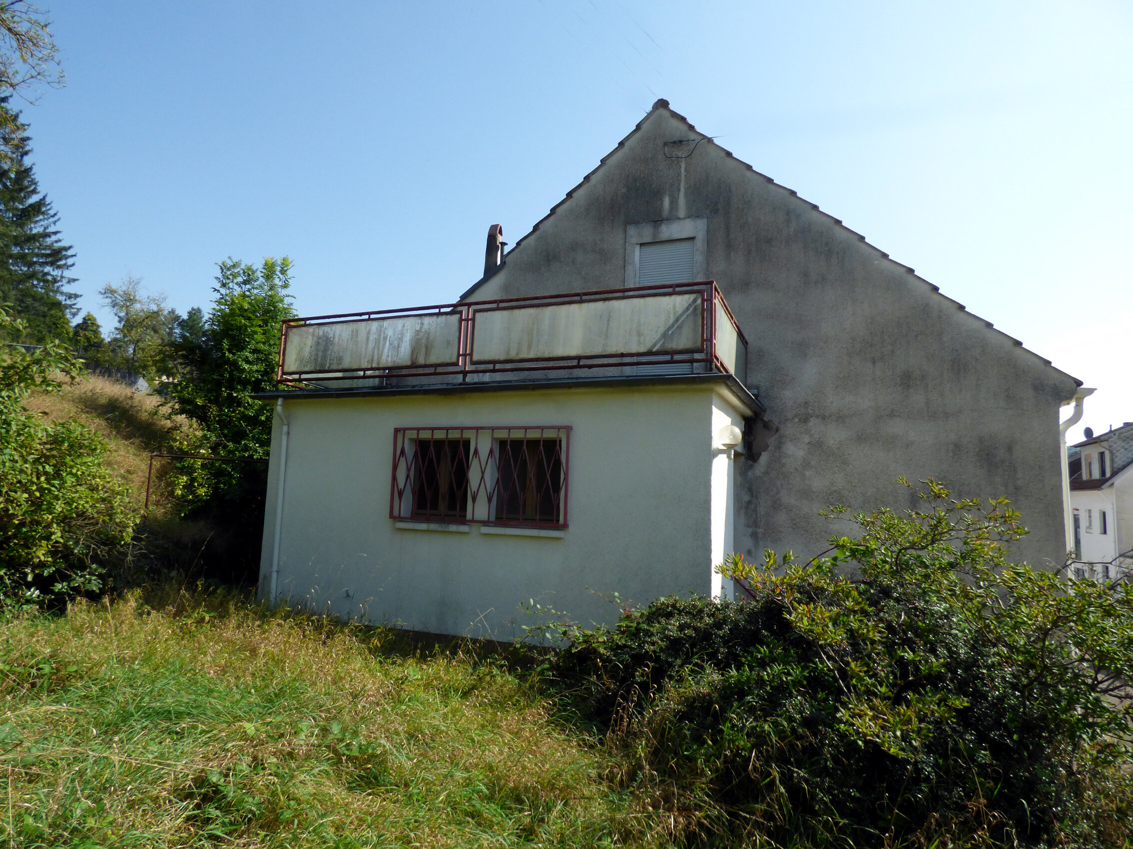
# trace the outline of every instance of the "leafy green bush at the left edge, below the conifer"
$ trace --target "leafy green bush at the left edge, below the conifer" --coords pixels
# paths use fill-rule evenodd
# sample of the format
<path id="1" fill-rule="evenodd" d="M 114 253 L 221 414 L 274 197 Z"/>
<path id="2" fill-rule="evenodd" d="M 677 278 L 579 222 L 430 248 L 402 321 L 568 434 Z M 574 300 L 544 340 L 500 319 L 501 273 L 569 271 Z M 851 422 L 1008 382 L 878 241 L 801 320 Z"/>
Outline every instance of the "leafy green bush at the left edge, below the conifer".
<path id="1" fill-rule="evenodd" d="M 19 323 L 0 310 L 0 329 Z M 105 443 L 77 421 L 45 421 L 23 402 L 58 392 L 78 363 L 58 342 L 0 353 L 0 604 L 35 606 L 102 585 L 102 560 L 130 538 L 128 490 Z"/>

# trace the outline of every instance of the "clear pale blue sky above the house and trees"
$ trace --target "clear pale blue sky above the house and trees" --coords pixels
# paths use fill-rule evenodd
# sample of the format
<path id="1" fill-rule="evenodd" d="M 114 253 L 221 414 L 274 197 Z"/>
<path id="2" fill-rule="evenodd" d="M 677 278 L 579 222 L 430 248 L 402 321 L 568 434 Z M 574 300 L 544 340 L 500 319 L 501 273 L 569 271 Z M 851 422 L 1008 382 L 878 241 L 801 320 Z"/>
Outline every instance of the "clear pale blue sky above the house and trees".
<path id="1" fill-rule="evenodd" d="M 25 109 L 82 307 L 289 255 L 301 314 L 455 299 L 657 97 L 1133 420 L 1127 2 L 50 5 Z"/>

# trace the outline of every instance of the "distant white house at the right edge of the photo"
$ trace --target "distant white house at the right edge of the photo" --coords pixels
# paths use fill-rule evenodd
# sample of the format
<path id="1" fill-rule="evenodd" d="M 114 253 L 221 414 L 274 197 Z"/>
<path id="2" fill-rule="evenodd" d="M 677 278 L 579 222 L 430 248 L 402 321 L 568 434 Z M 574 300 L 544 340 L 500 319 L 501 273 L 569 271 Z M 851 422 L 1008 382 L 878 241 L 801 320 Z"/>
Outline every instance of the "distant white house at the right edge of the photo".
<path id="1" fill-rule="evenodd" d="M 1067 451 L 1077 577 L 1116 580 L 1133 568 L 1133 421 Z"/>

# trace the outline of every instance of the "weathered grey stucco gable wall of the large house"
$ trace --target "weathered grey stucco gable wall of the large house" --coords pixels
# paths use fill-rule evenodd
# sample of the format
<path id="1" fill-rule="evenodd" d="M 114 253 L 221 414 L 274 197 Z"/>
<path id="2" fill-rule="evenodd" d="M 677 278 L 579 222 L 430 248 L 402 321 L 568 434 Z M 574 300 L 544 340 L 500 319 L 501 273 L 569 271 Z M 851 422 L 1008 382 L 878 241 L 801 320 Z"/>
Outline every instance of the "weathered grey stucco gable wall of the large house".
<path id="1" fill-rule="evenodd" d="M 627 225 L 706 217 L 708 276 L 782 428 L 739 466 L 738 549 L 815 554 L 843 531 L 824 506 L 912 506 L 894 479 L 931 475 L 1011 498 L 1031 528 L 1016 558 L 1062 563 L 1058 408 L 1073 378 L 714 143 L 683 169 L 665 156 L 699 135 L 655 109 L 467 298 L 622 286 Z"/>

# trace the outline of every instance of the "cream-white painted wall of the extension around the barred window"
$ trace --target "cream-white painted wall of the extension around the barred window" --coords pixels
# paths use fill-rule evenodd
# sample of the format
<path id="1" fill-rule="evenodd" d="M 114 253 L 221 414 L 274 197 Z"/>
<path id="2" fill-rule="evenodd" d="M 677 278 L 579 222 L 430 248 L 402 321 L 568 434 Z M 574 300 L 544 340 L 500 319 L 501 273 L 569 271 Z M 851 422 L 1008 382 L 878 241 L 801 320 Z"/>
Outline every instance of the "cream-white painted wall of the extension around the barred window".
<path id="1" fill-rule="evenodd" d="M 732 471 L 712 444 L 719 426 L 742 428 L 742 413 L 717 394 L 680 384 L 288 400 L 280 597 L 348 619 L 514 640 L 535 624 L 519 609 L 529 599 L 590 625 L 619 615 L 591 591 L 638 603 L 726 594 L 712 566 L 732 546 Z M 569 528 L 398 526 L 394 428 L 501 426 L 572 428 Z M 265 552 L 273 533 L 270 511 Z"/>

